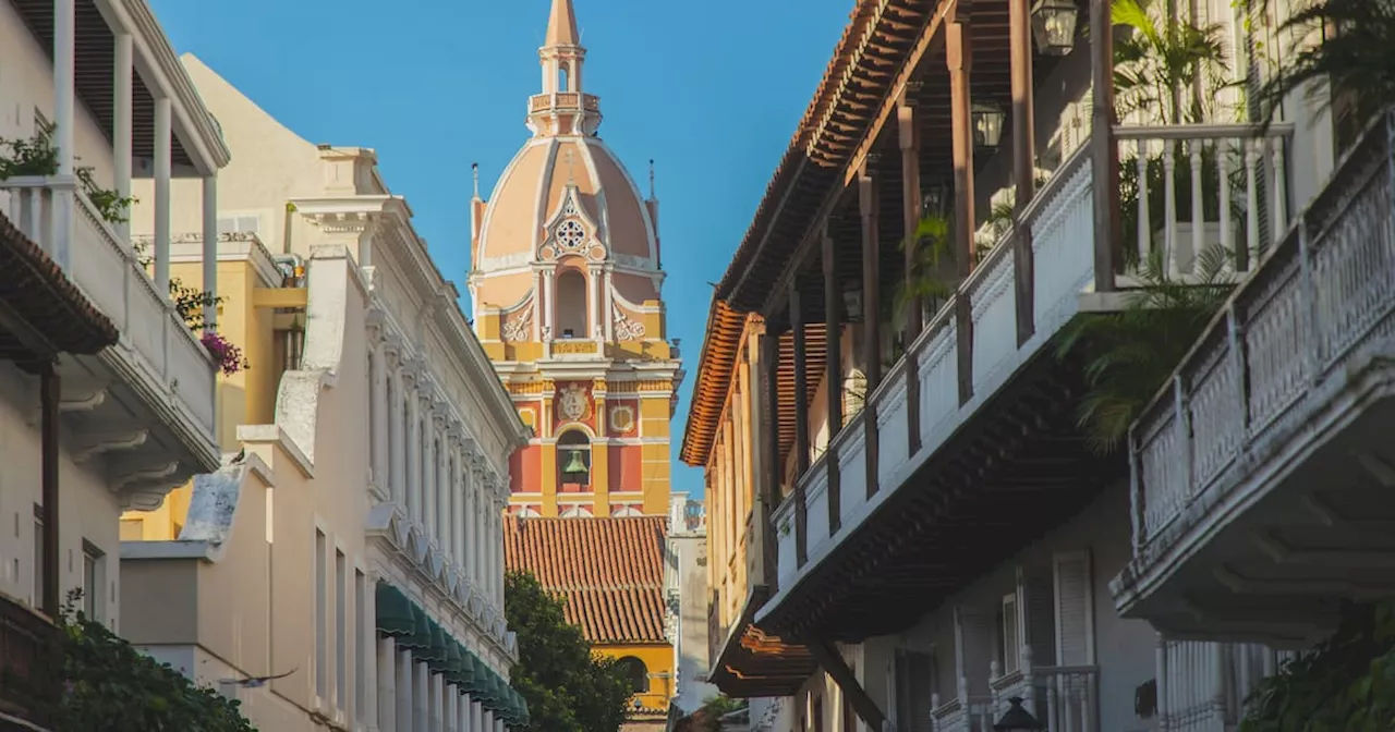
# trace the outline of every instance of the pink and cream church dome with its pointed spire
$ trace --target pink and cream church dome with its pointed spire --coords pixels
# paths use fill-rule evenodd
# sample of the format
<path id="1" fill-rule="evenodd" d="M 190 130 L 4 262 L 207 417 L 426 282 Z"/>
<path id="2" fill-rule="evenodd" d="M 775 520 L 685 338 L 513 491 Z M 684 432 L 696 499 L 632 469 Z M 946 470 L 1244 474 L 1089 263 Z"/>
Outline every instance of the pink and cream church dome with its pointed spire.
<path id="1" fill-rule="evenodd" d="M 509 162 L 488 202 L 476 190 L 470 291 L 476 308 L 513 311 L 547 301 L 545 293 L 538 294 L 547 289 L 544 280 L 575 269 L 590 289 L 585 307 L 593 330 L 612 317 L 615 308 L 603 303 L 611 291 L 629 310 L 658 298 L 663 272 L 653 173 L 646 199 L 596 135 L 600 99 L 583 89 L 586 49 L 572 0 L 552 0 L 538 57 L 543 93 L 529 98 L 531 138 Z M 554 300 L 548 310 L 562 304 L 561 297 Z"/>

